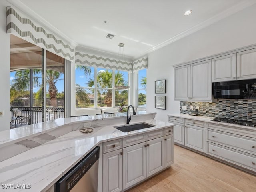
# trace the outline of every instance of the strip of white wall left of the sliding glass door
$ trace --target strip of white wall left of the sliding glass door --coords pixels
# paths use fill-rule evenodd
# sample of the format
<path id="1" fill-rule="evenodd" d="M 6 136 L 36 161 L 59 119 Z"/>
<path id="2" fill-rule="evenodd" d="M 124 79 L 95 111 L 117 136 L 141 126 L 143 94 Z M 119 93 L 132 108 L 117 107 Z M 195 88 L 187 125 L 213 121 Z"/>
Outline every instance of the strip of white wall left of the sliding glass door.
<path id="1" fill-rule="evenodd" d="M 10 34 L 6 34 L 5 0 L 0 1 L 0 131 L 10 129 Z"/>

